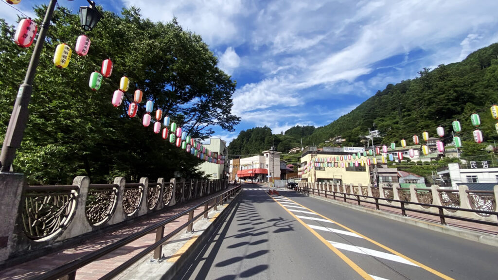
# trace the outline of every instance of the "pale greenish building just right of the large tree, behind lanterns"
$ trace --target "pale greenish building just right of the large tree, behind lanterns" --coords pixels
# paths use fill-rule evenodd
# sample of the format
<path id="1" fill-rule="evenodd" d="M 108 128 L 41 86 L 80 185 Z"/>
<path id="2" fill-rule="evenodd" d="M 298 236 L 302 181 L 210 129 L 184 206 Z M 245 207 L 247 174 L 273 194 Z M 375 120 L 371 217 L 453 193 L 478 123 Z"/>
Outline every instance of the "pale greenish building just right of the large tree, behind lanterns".
<path id="1" fill-rule="evenodd" d="M 209 140 L 208 144 L 203 145 L 211 152 L 220 154 L 224 156 L 224 158 L 228 155 L 227 142 L 224 140 L 212 138 Z M 201 163 L 199 169 L 204 171 L 204 174 L 206 174 L 210 179 L 227 178 L 229 174 L 229 164 L 227 160 L 224 161 L 224 164 L 205 161 Z"/>

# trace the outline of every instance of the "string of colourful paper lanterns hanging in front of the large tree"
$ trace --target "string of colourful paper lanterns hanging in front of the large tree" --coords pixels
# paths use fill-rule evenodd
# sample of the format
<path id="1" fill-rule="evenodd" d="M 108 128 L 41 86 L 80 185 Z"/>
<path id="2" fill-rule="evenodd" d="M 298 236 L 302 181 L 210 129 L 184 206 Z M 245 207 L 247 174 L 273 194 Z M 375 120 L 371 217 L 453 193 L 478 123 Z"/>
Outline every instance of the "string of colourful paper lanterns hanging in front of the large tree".
<path id="1" fill-rule="evenodd" d="M 17 4 L 20 0 L 7 0 L 10 4 Z M 21 19 L 17 25 L 17 30 L 14 35 L 14 42 L 23 48 L 27 48 L 32 45 L 34 37 L 38 27 L 36 23 L 31 18 Z M 76 40 L 75 52 L 79 56 L 85 56 L 88 54 L 90 49 L 91 41 L 86 35 L 80 35 Z M 71 60 L 72 49 L 69 45 L 65 43 L 60 43 L 57 45 L 53 57 L 53 63 L 57 68 L 66 68 Z M 110 58 L 102 61 L 101 71 L 94 71 L 90 74 L 89 87 L 93 91 L 98 91 L 102 86 L 102 81 L 105 78 L 111 77 L 113 72 L 113 62 Z M 120 79 L 119 88 L 114 91 L 111 103 L 114 107 L 120 107 L 123 103 L 124 93 L 129 89 L 129 78 L 124 75 Z M 133 95 L 133 102 L 128 106 L 128 116 L 133 118 L 136 116 L 139 104 L 142 102 L 143 92 L 140 89 L 135 90 Z M 148 100 L 145 103 L 146 113 L 142 118 L 142 125 L 148 127 L 151 122 L 151 113 L 154 108 L 154 102 Z M 174 143 L 177 147 L 191 153 L 198 158 L 205 160 L 207 162 L 215 164 L 225 164 L 225 155 L 221 155 L 218 152 L 213 152 L 207 149 L 200 142 L 191 138 L 187 132 L 182 131 L 182 128 L 177 127 L 176 123 L 170 122 L 170 118 L 165 116 L 162 118 L 162 110 L 157 109 L 155 112 L 155 122 L 153 126 L 153 132 L 159 134 L 161 132 L 161 119 L 162 119 L 162 138 L 164 140 L 169 139 L 170 143 Z M 170 128 L 168 131 L 168 127 Z"/>

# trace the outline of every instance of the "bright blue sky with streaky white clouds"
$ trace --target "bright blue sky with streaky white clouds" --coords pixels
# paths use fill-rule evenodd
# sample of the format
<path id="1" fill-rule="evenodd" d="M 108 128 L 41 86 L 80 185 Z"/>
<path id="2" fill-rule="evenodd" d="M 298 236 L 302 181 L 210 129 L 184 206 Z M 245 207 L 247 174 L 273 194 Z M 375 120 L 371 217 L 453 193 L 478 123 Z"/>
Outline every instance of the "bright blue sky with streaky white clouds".
<path id="1" fill-rule="evenodd" d="M 4 0 L 0 0 L 4 1 Z M 15 5 L 31 15 L 32 6 Z M 59 0 L 78 7 L 85 0 Z M 498 42 L 497 0 L 96 0 L 120 13 L 134 5 L 143 17 L 170 21 L 202 36 L 219 67 L 237 81 L 233 133 L 269 127 L 321 127 L 351 112 L 389 83 L 424 67 L 463 60 Z M 0 17 L 17 11 L 0 3 Z"/>

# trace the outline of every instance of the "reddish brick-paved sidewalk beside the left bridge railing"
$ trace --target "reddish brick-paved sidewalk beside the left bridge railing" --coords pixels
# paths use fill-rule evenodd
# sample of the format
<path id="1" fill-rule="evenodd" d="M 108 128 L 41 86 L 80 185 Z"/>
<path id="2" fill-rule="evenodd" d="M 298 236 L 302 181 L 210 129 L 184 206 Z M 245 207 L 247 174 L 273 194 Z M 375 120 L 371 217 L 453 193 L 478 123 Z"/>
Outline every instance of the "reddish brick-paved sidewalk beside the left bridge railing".
<path id="1" fill-rule="evenodd" d="M 229 188 L 231 187 L 233 187 L 233 185 L 229 186 Z M 219 193 L 211 194 L 209 196 L 205 196 L 182 205 L 173 206 L 170 209 L 166 209 L 158 213 L 151 213 L 150 215 L 145 215 L 145 217 L 142 216 L 140 218 L 137 218 L 132 224 L 125 225 L 118 230 L 103 233 L 96 236 L 94 239 L 87 240 L 77 246 L 62 249 L 60 251 L 45 255 L 41 258 L 4 269 L 0 271 L 0 280 L 32 279 L 33 277 L 39 276 L 49 270 L 58 268 L 61 265 L 81 258 L 86 254 L 113 244 L 133 233 L 139 232 L 140 230 L 148 226 L 166 220 L 192 206 L 195 206 L 202 201 L 205 201 L 206 199 L 218 195 Z M 210 202 L 209 206 L 212 205 L 213 202 Z M 203 210 L 204 207 L 198 208 L 194 211 L 194 216 L 198 215 Z M 211 215 L 209 217 L 211 217 Z M 171 233 L 173 230 L 177 229 L 178 226 L 184 224 L 187 221 L 188 214 L 183 215 L 177 220 L 167 224 L 164 227 L 164 236 L 166 236 L 168 233 Z M 154 242 L 155 231 L 125 245 L 118 250 L 115 250 L 114 252 L 100 258 L 99 260 L 85 266 L 84 268 L 79 269 L 76 274 L 76 279 L 97 280 L 100 277 L 106 275 L 111 270 L 117 268 L 119 265 L 123 264 L 125 261 L 129 260 L 131 257 L 135 256 L 138 252 L 142 251 L 144 248 L 148 247 Z"/>

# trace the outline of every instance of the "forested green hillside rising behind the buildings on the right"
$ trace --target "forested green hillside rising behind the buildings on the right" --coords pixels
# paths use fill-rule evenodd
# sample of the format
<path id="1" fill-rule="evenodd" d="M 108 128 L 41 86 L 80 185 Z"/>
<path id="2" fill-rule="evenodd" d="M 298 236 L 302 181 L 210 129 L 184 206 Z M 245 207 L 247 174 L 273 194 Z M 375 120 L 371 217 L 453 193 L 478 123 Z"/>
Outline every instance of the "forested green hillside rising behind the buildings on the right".
<path id="1" fill-rule="evenodd" d="M 459 120 L 462 124 L 462 140 L 473 140 L 474 127 L 470 121 L 472 113 L 478 113 L 485 141 L 498 140 L 495 131 L 496 121 L 490 114 L 490 107 L 498 103 L 498 43 L 492 44 L 470 54 L 465 60 L 449 65 L 439 65 L 435 69 L 424 68 L 419 76 L 401 81 L 396 85 L 389 84 L 382 91 L 377 91 L 349 114 L 340 117 L 331 124 L 319 127 L 294 127 L 282 135 L 271 135 L 266 128 L 266 136 L 262 142 L 249 142 L 251 131 L 241 132 L 230 144 L 230 153 L 247 151 L 240 149 L 251 146 L 251 153 L 267 149 L 268 139 L 278 139 L 275 144 L 278 151 L 287 152 L 294 146 L 315 143 L 324 145 L 326 140 L 341 135 L 347 140 L 344 144 L 363 146 L 363 136 L 370 130 L 377 129 L 381 138 L 375 144 L 399 143 L 399 140 L 411 141 L 414 134 L 424 131 L 436 137 L 436 128 L 443 126 L 445 133 L 451 135 L 451 122 Z M 375 126 L 373 126 L 375 124 Z M 451 138 L 445 139 L 451 142 Z M 288 143 L 282 144 L 282 142 Z M 329 143 L 327 143 L 329 144 Z M 242 152 L 244 153 L 244 152 Z"/>

